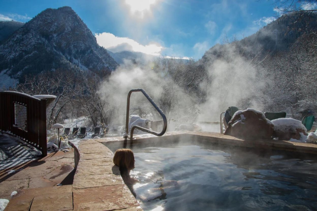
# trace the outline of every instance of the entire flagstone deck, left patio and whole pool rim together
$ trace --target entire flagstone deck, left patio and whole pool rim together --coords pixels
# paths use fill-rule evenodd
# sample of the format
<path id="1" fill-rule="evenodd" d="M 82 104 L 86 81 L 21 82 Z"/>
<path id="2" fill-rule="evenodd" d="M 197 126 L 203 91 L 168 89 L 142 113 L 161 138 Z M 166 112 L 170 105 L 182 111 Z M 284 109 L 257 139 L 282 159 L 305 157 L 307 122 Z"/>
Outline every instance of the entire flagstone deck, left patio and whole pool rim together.
<path id="1" fill-rule="evenodd" d="M 317 154 L 317 145 L 314 144 L 274 140 L 245 141 L 209 132 L 187 132 L 186 134 L 172 132 L 164 135 L 164 139 L 153 138 L 151 135 L 136 136 L 133 145 L 173 139 Z M 121 137 L 84 140 L 73 145 L 72 152 L 50 153 L 36 162 L 16 168 L 16 170 L 22 170 L 12 175 L 8 175 L 6 171 L 0 171 L 0 198 L 10 199 L 12 191 L 18 190 L 18 193 L 10 199 L 5 211 L 142 211 L 130 190 L 123 183 L 119 167 L 113 164 L 113 153 L 108 145 L 106 147 L 103 144 L 107 141 L 123 140 Z M 124 141 L 125 144 L 129 144 L 127 142 L 130 140 Z M 57 183 L 63 185 L 56 186 Z"/>

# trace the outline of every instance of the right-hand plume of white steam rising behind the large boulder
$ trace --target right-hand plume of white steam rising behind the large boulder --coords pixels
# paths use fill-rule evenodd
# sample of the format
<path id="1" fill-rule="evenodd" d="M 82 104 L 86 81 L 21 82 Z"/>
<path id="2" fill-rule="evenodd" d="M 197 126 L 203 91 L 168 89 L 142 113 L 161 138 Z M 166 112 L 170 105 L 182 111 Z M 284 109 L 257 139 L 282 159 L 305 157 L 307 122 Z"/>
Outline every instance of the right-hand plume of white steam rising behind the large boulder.
<path id="1" fill-rule="evenodd" d="M 220 113 L 229 106 L 237 106 L 239 109 L 262 108 L 261 104 L 252 100 L 259 97 L 264 87 L 257 76 L 258 61 L 246 61 L 235 50 L 226 48 L 225 60 L 210 58 L 214 61 L 207 67 L 211 83 L 201 84 L 206 87 L 207 100 L 200 106 L 199 120 L 219 120 Z"/>

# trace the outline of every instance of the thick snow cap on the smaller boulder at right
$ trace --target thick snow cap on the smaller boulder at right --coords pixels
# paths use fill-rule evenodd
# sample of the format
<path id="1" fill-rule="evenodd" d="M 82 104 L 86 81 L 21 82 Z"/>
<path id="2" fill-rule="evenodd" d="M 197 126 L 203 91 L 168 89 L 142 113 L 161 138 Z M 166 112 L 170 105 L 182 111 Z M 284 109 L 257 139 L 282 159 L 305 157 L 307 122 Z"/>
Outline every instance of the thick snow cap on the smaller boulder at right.
<path id="1" fill-rule="evenodd" d="M 299 120 L 291 119 L 291 118 L 279 118 L 272 120 L 274 124 L 274 130 L 279 130 L 283 132 L 288 132 L 290 130 L 296 131 L 296 128 L 303 129 L 307 132 L 306 127 Z"/>

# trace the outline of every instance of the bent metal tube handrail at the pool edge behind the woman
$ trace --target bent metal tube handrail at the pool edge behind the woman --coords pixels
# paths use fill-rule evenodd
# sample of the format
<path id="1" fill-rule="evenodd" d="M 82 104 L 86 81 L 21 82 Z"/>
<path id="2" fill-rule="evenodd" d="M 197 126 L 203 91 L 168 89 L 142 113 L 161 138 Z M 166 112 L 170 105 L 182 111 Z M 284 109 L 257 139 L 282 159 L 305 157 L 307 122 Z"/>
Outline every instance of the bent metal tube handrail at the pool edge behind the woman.
<path id="1" fill-rule="evenodd" d="M 155 131 L 152 131 L 148 128 L 144 128 L 144 127 L 140 127 L 140 126 L 133 126 L 131 128 L 131 131 L 130 131 L 130 139 L 133 139 L 133 131 L 135 128 L 143 131 L 143 132 L 146 132 L 146 133 L 151 133 L 153 135 L 156 135 L 156 136 L 162 136 L 164 135 L 165 131 L 166 131 L 166 128 L 167 128 L 167 119 L 166 119 L 166 116 L 165 114 L 163 113 L 163 111 L 155 104 L 155 102 L 152 100 L 152 98 L 143 90 L 143 89 L 133 89 L 133 90 L 130 90 L 129 93 L 128 93 L 128 97 L 127 97 L 127 102 L 126 102 L 126 133 L 124 133 L 123 135 L 123 138 L 128 138 L 128 127 L 129 127 L 129 110 L 130 110 L 130 96 L 132 94 L 132 92 L 142 92 L 143 95 L 151 102 L 151 104 L 154 106 L 154 108 L 159 112 L 159 114 L 162 116 L 163 118 L 163 121 L 164 121 L 164 125 L 163 125 L 163 130 L 161 133 L 157 133 Z"/>

